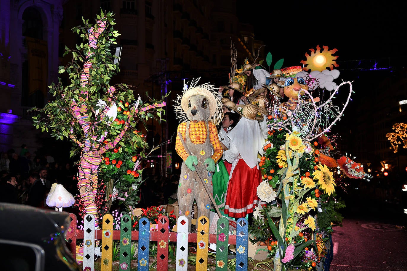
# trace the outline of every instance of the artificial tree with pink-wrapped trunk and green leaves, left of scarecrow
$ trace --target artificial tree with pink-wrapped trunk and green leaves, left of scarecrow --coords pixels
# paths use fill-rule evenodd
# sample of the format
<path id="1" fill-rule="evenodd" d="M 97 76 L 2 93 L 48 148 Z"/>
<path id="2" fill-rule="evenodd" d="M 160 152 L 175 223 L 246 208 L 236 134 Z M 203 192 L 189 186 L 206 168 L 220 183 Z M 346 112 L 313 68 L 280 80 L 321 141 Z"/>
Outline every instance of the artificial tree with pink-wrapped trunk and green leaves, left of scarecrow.
<path id="1" fill-rule="evenodd" d="M 82 215 L 91 213 L 98 217 L 106 211 L 106 208 L 101 208 L 104 198 L 103 195 L 97 195 L 98 189 L 102 187 L 101 190 L 108 196 L 112 193 L 104 191 L 103 180 L 98 178 L 102 161 L 109 157 L 107 153 L 111 150 L 112 153 L 118 153 L 118 156 L 123 154 L 122 160 L 125 163 L 129 153 L 140 160 L 145 157 L 147 143 L 136 128 L 140 123 L 145 126 L 149 117 L 161 119 L 161 113 L 165 113 L 162 108 L 165 102 L 150 100 L 149 103 L 142 104 L 140 97 L 135 100 L 132 86 L 109 85 L 109 80 L 119 71 L 118 65 L 114 63 L 117 56 L 112 55 L 109 49 L 109 46 L 117 44 L 116 38 L 120 35 L 113 29 L 115 23 L 112 13 L 101 12 L 94 25 L 89 24 L 89 20 L 83 20 L 83 23 L 84 26 L 74 27 L 72 30 L 74 33 L 81 33 L 83 40 L 88 42 L 77 45 L 77 50 L 66 47 L 64 56 L 71 53 L 72 61 L 59 67 L 59 74 L 68 74 L 70 85 L 63 86 L 62 80 L 58 78 L 57 84 L 49 86 L 53 100 L 40 110 L 32 110 L 39 111 L 33 117 L 37 129 L 50 131 L 52 137 L 69 139 L 74 143 L 71 157 L 80 154 L 77 179 Z M 135 161 L 129 163 L 133 162 Z M 140 184 L 141 169 L 134 163 L 131 165 L 134 166 L 132 171 L 138 170 L 137 177 L 133 181 L 127 181 L 127 186 L 116 183 L 121 189 L 118 193 L 127 192 L 123 189 L 138 190 L 138 186 L 132 186 L 132 182 Z M 107 176 L 107 180 L 120 179 L 126 175 L 124 169 L 123 172 L 119 170 L 120 166 L 114 166 L 114 172 Z"/>

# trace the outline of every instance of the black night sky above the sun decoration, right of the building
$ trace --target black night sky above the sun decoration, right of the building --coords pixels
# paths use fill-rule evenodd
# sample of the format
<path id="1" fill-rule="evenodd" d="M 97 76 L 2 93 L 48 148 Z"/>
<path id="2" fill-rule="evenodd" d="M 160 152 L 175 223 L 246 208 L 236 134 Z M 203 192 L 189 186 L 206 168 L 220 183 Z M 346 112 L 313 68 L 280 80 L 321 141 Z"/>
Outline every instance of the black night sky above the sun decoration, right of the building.
<path id="1" fill-rule="evenodd" d="M 254 25 L 255 39 L 265 41 L 273 64 L 284 58 L 284 67 L 300 65 L 317 45 L 337 48 L 337 61 L 407 56 L 405 3 L 389 7 L 370 1 L 313 1 L 278 9 L 264 4 L 261 9 L 270 12 L 261 15 L 259 6 L 237 2 L 239 21 Z"/>

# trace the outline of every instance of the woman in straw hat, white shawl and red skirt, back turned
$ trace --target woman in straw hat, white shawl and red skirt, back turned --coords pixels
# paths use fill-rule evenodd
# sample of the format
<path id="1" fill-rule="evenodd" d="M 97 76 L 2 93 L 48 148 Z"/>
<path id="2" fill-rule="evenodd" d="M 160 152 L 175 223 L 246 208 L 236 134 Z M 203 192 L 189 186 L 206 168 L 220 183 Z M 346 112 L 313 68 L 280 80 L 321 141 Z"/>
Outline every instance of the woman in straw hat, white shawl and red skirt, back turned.
<path id="1" fill-rule="evenodd" d="M 260 204 L 257 186 L 262 181 L 257 153 L 262 151 L 264 139 L 257 120 L 263 119 L 254 104 L 236 105 L 234 111 L 242 115 L 229 133 L 230 150 L 224 152 L 232 163 L 224 213 L 229 217 L 245 217 Z"/>

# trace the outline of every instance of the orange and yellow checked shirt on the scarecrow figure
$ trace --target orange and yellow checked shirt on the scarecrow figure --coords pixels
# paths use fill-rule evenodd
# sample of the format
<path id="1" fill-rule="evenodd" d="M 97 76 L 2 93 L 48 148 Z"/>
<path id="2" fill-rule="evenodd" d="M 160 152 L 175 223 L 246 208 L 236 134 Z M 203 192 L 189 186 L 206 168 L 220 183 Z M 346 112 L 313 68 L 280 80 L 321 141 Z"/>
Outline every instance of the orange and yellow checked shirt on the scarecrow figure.
<path id="1" fill-rule="evenodd" d="M 194 144 L 203 144 L 205 143 L 206 137 L 208 132 L 206 131 L 206 124 L 205 121 L 199 121 L 197 123 L 190 122 L 189 124 L 189 137 L 192 143 Z M 209 139 L 210 143 L 212 143 L 214 152 L 211 156 L 211 158 L 214 160 L 216 163 L 219 158 L 222 157 L 223 150 L 221 147 L 221 144 L 219 143 L 219 138 L 218 138 L 218 131 L 216 126 L 209 121 Z M 186 153 L 186 150 L 184 146 L 181 143 L 181 140 L 178 137 L 178 132 L 182 134 L 182 138 L 185 141 L 185 132 L 186 132 L 186 122 L 183 122 L 178 125 L 177 129 L 177 139 L 175 140 L 175 150 L 177 151 L 177 154 L 182 158 L 182 160 L 186 160 L 188 157 L 188 154 Z"/>

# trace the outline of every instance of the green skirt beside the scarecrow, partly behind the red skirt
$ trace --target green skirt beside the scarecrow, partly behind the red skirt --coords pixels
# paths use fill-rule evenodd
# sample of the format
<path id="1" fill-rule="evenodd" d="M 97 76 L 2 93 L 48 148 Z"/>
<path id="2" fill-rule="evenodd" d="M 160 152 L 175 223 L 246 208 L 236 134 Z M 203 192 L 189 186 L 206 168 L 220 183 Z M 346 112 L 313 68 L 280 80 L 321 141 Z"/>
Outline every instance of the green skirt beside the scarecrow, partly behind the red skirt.
<path id="1" fill-rule="evenodd" d="M 225 208 L 226 190 L 228 189 L 229 174 L 223 164 L 223 160 L 219 159 L 215 167 L 215 172 L 212 175 L 213 198 L 219 208 Z M 212 209 L 213 211 L 214 209 Z"/>

